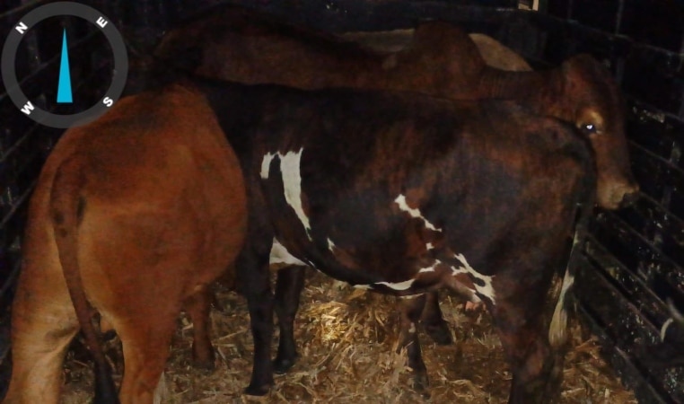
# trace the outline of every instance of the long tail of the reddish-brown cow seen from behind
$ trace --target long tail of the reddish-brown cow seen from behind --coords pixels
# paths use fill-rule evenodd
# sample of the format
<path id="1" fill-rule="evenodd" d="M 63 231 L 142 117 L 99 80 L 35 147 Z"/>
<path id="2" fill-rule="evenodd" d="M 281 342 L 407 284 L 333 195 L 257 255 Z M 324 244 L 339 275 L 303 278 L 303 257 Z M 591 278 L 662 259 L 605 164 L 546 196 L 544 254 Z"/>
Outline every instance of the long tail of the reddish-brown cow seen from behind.
<path id="1" fill-rule="evenodd" d="M 85 211 L 81 189 L 85 184 L 82 166 L 66 161 L 58 170 L 50 196 L 52 219 L 59 262 L 66 288 L 74 304 L 76 318 L 83 330 L 85 344 L 95 362 L 95 403 L 118 404 L 118 394 L 111 377 L 110 365 L 100 346 L 99 332 L 92 324 L 92 306 L 85 296 L 78 263 L 78 226 Z"/>

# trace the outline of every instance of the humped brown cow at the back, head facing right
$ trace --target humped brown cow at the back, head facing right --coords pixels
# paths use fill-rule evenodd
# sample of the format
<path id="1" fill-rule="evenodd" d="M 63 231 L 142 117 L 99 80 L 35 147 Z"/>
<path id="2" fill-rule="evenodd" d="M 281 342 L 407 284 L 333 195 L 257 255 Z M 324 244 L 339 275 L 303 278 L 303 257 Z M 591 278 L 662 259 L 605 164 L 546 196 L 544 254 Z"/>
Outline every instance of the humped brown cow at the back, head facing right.
<path id="1" fill-rule="evenodd" d="M 212 10 L 171 31 L 155 54 L 164 68 L 182 59 L 187 62 L 183 67 L 198 75 L 240 83 L 516 100 L 587 133 L 596 154 L 599 205 L 617 208 L 638 189 L 629 167 L 618 87 L 608 70 L 586 55 L 548 71 L 506 72 L 487 66 L 468 35 L 445 22 L 425 22 L 407 48 L 380 54 L 233 7 Z"/>

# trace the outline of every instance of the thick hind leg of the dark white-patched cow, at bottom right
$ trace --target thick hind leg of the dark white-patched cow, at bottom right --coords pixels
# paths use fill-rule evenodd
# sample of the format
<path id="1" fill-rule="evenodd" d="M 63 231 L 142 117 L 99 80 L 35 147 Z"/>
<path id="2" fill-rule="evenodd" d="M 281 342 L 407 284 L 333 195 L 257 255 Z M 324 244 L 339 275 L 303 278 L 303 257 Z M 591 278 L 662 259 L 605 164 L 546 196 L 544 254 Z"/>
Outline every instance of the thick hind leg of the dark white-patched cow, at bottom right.
<path id="1" fill-rule="evenodd" d="M 557 402 L 563 357 L 548 343 L 548 327 L 541 310 L 530 305 L 523 307 L 521 302 L 525 301 L 524 296 L 513 296 L 497 300 L 490 309 L 513 373 L 508 402 Z"/>

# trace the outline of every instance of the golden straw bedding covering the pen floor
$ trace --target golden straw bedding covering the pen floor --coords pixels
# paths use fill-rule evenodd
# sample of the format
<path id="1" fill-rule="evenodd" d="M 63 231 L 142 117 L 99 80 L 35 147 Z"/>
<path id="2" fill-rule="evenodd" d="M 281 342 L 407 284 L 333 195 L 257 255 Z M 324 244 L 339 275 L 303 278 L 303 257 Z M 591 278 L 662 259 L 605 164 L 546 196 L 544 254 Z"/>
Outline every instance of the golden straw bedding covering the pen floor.
<path id="1" fill-rule="evenodd" d="M 252 341 L 244 299 L 217 290 L 221 309 L 211 313 L 216 369 L 191 366 L 192 324 L 181 316 L 164 376 L 168 403 L 505 403 L 511 373 L 487 312 L 463 311 L 457 296 L 443 294 L 444 318 L 454 344 L 440 347 L 425 335 L 421 343 L 430 377 L 429 393 L 411 387 L 404 353 L 395 353 L 399 315 L 390 296 L 355 290 L 311 271 L 295 323 L 300 359 L 263 398 L 241 394 L 250 379 Z M 636 403 L 601 359 L 600 348 L 580 325 L 571 324 L 572 347 L 566 355 L 562 403 Z M 275 355 L 274 341 L 274 355 Z M 120 381 L 120 344 L 106 350 Z M 65 402 L 92 397 L 87 356 L 72 350 L 65 364 Z"/>

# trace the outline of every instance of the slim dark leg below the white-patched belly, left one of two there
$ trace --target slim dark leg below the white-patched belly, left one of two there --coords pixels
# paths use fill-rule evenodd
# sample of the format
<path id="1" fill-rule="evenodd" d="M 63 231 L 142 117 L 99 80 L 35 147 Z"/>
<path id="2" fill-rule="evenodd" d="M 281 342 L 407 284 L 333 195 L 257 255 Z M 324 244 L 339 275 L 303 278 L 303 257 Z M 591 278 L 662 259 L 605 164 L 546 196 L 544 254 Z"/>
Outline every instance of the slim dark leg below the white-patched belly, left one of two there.
<path id="1" fill-rule="evenodd" d="M 401 299 L 401 322 L 399 332 L 399 348 L 406 348 L 408 356 L 408 366 L 414 372 L 415 388 L 425 390 L 429 385 L 427 380 L 427 369 L 423 362 L 420 352 L 420 341 L 418 341 L 417 323 L 425 307 L 425 294 L 414 298 Z"/>

